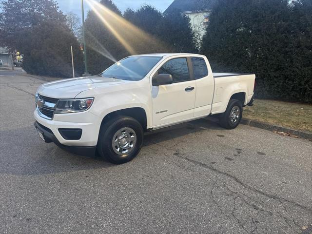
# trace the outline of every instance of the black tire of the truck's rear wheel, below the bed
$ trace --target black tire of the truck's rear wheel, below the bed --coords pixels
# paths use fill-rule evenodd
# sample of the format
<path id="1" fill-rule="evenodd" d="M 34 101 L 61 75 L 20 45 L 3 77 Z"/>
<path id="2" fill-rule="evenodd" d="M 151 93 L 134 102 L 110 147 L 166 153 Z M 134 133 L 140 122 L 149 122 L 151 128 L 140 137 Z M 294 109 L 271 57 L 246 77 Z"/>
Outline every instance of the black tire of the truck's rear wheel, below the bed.
<path id="1" fill-rule="evenodd" d="M 231 117 L 232 110 L 235 110 L 237 108 L 239 110 L 239 114 L 235 115 L 236 116 L 235 118 Z M 242 114 L 243 114 L 242 102 L 237 99 L 231 99 L 226 108 L 226 111 L 223 113 L 223 115 L 219 119 L 220 125 L 223 128 L 234 129 L 240 123 L 240 120 L 242 119 Z"/>

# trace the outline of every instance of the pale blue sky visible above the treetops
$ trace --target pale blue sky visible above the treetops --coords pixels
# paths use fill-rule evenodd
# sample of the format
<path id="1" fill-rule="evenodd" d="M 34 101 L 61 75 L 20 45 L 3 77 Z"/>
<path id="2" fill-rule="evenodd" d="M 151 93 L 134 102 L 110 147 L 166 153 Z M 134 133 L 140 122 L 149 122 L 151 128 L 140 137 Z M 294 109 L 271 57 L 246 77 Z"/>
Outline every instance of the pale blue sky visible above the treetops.
<path id="1" fill-rule="evenodd" d="M 79 17 L 81 16 L 81 0 L 56 0 L 59 4 L 59 9 L 64 13 L 74 12 Z M 173 0 L 113 0 L 121 12 L 124 12 L 127 8 L 136 10 L 142 4 L 149 4 L 155 6 L 160 12 L 164 12 L 167 7 L 173 2 Z M 84 2 L 84 17 L 87 16 L 87 12 L 90 10 L 88 4 Z"/>

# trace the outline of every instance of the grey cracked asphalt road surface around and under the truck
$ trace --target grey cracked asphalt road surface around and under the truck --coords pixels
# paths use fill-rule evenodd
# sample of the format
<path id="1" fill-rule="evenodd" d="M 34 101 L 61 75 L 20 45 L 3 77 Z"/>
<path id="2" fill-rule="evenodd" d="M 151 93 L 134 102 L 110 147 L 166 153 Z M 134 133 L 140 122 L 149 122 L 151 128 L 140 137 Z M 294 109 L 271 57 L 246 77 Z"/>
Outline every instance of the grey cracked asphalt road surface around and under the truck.
<path id="1" fill-rule="evenodd" d="M 113 165 L 41 141 L 43 82 L 0 71 L 1 234 L 312 230 L 311 141 L 201 119 L 147 135 Z"/>

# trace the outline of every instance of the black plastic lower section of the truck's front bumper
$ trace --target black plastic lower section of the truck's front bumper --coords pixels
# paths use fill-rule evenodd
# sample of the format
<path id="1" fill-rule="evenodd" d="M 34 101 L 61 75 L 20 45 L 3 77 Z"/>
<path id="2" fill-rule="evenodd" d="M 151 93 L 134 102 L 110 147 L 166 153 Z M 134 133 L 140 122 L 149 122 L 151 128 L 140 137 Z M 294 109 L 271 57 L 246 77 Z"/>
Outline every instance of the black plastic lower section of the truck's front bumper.
<path id="1" fill-rule="evenodd" d="M 97 146 L 68 146 L 68 145 L 63 145 L 59 142 L 57 137 L 53 134 L 51 129 L 45 127 L 44 125 L 40 124 L 39 122 L 35 121 L 34 123 L 37 131 L 43 135 L 45 142 L 54 142 L 59 148 L 62 148 L 64 150 L 67 150 L 73 154 L 76 155 L 81 155 L 81 156 L 95 156 L 96 154 L 96 149 Z"/>

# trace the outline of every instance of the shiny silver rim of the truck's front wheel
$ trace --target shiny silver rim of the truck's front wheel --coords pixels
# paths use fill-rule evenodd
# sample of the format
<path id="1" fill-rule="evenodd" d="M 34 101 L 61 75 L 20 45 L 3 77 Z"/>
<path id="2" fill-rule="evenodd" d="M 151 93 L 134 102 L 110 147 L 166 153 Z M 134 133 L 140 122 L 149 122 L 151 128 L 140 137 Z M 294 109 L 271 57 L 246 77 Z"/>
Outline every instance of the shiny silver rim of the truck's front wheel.
<path id="1" fill-rule="evenodd" d="M 132 128 L 119 129 L 112 139 L 112 147 L 117 155 L 127 156 L 135 148 L 137 143 L 136 132 Z"/>

